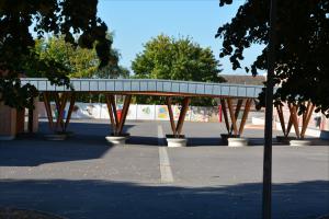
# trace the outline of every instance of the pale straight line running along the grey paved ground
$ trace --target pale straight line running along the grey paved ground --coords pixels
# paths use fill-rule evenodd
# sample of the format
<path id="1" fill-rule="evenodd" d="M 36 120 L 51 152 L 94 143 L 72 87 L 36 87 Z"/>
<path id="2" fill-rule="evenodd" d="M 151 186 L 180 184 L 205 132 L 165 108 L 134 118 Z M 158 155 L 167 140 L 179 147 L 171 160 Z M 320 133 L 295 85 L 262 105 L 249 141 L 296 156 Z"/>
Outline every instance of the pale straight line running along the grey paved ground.
<path id="1" fill-rule="evenodd" d="M 158 125 L 158 143 L 159 143 L 159 162 L 160 162 L 160 174 L 161 183 L 172 183 L 173 175 L 170 166 L 170 161 L 167 152 L 167 147 L 163 147 L 163 130 L 162 126 Z"/>

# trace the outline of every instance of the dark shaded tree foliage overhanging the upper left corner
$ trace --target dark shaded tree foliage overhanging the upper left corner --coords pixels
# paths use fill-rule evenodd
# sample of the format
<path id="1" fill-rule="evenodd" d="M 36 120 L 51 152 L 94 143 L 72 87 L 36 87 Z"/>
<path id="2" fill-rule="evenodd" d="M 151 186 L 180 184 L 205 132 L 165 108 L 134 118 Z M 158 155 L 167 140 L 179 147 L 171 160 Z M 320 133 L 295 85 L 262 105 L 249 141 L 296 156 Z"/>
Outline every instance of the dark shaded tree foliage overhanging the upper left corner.
<path id="1" fill-rule="evenodd" d="M 34 87 L 22 87 L 19 80 L 26 69 L 35 67 L 56 84 L 69 84 L 69 69 L 54 59 L 38 59 L 31 51 L 35 45 L 30 27 L 43 37 L 46 33 L 64 35 L 65 41 L 92 48 L 100 59 L 100 67 L 110 59 L 112 42 L 106 38 L 107 27 L 97 16 L 98 0 L 1 0 L 0 1 L 0 102 L 14 107 L 25 107 L 36 95 Z"/>

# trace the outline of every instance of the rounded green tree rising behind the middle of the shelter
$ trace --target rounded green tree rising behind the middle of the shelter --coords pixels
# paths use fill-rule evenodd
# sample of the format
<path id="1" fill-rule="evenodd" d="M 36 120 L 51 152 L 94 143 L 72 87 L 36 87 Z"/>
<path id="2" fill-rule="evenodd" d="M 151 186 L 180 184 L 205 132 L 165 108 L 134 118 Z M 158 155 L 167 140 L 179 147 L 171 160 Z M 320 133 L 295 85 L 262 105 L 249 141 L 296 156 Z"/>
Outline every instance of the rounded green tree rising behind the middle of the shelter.
<path id="1" fill-rule="evenodd" d="M 146 43 L 144 51 L 132 64 L 136 78 L 224 82 L 219 67 L 209 48 L 202 48 L 189 37 L 175 39 L 166 35 Z M 212 102 L 203 99 L 193 103 L 207 105 Z"/>

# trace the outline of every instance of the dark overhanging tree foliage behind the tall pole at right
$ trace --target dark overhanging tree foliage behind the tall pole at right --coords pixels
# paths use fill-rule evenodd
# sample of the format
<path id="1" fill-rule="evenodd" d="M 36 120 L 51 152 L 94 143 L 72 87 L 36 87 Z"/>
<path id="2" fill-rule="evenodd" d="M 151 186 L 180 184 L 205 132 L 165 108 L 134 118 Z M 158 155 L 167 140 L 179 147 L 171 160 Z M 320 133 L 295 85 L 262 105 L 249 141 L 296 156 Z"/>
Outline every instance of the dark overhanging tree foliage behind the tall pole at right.
<path id="1" fill-rule="evenodd" d="M 219 5 L 231 3 L 220 0 Z M 243 51 L 252 44 L 265 45 L 254 62 L 247 67 L 252 74 L 266 69 L 270 1 L 249 0 L 236 16 L 218 28 L 220 57 L 229 56 L 232 69 L 241 68 Z M 274 81 L 280 88 L 274 103 L 290 102 L 299 106 L 311 101 L 317 111 L 329 116 L 329 1 L 277 0 L 276 54 Z M 264 101 L 264 93 L 260 96 Z"/>

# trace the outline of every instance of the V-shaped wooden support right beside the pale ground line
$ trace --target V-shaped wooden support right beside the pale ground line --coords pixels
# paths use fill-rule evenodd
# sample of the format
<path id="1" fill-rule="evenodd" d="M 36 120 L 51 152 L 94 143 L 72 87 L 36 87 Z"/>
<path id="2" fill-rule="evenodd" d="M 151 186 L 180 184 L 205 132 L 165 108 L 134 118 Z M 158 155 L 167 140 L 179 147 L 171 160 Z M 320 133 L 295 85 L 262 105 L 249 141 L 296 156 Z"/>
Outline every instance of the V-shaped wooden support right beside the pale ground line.
<path id="1" fill-rule="evenodd" d="M 167 107 L 168 107 L 168 113 L 169 113 L 169 118 L 170 118 L 170 125 L 171 125 L 171 130 L 173 136 L 180 136 L 183 129 L 183 124 L 185 120 L 185 116 L 189 110 L 189 104 L 190 104 L 190 97 L 184 97 L 183 102 L 182 102 L 182 108 L 179 115 L 179 119 L 177 122 L 177 125 L 174 123 L 174 118 L 173 118 L 173 113 L 172 113 L 172 107 L 171 107 L 171 97 L 167 96 L 166 101 L 167 101 Z"/>

